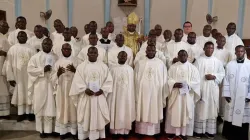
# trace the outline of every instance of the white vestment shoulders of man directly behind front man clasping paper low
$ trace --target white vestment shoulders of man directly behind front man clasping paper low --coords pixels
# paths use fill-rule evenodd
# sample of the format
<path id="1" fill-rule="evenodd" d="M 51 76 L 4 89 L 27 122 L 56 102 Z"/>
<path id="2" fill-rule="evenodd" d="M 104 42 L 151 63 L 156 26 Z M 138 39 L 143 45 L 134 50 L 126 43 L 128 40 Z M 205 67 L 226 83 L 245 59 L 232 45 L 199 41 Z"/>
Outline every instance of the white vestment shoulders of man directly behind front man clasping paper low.
<path id="1" fill-rule="evenodd" d="M 90 47 L 92 47 L 92 45 L 87 45 L 87 46 L 85 46 L 84 48 L 82 48 L 82 50 L 80 51 L 80 53 L 78 54 L 78 59 L 80 59 L 82 62 L 83 61 L 85 61 L 85 60 L 88 60 L 88 49 L 90 48 Z M 106 54 L 106 51 L 102 48 L 102 47 L 100 47 L 100 46 L 98 46 L 98 45 L 96 45 L 95 46 L 96 48 L 97 48 L 97 50 L 98 50 L 98 57 L 97 57 L 97 60 L 98 61 L 102 61 L 102 62 L 105 62 L 105 54 Z"/>

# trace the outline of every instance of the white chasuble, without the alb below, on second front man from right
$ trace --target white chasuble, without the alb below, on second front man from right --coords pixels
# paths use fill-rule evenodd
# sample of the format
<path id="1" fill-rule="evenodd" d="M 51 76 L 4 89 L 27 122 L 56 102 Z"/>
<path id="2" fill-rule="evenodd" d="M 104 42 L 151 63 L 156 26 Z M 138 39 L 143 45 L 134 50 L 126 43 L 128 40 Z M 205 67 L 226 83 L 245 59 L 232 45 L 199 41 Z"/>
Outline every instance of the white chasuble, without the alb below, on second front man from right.
<path id="1" fill-rule="evenodd" d="M 219 84 L 225 76 L 225 70 L 220 60 L 214 56 L 205 55 L 194 64 L 200 73 L 201 100 L 196 104 L 196 115 L 199 120 L 215 119 L 219 111 Z M 205 75 L 211 74 L 215 80 L 206 80 Z"/>

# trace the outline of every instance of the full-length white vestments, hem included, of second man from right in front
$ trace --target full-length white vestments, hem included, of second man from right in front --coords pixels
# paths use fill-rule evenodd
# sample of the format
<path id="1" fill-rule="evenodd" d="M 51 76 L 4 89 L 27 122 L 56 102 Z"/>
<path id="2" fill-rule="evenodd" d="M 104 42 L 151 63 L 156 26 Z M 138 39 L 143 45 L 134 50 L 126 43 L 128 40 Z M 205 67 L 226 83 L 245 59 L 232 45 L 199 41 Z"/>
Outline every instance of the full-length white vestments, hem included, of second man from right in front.
<path id="1" fill-rule="evenodd" d="M 201 78 L 201 100 L 196 103 L 194 131 L 198 134 L 216 134 L 216 118 L 219 113 L 219 84 L 225 76 L 220 60 L 205 55 L 194 64 Z M 211 74 L 215 80 L 206 80 L 205 75 Z"/>

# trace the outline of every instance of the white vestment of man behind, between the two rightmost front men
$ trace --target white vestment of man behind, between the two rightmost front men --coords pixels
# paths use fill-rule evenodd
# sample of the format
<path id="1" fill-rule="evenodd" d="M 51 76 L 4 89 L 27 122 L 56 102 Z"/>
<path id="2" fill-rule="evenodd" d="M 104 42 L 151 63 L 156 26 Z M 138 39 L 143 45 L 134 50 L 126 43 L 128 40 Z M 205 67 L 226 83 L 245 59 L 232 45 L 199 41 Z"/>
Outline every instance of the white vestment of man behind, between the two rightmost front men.
<path id="1" fill-rule="evenodd" d="M 215 47 L 214 52 L 213 52 L 213 56 L 222 62 L 224 68 L 226 67 L 227 63 L 233 59 L 232 54 L 225 48 L 218 49 L 217 47 Z M 224 98 L 222 98 L 223 82 L 219 86 L 220 86 L 219 115 L 224 116 L 226 100 Z"/>

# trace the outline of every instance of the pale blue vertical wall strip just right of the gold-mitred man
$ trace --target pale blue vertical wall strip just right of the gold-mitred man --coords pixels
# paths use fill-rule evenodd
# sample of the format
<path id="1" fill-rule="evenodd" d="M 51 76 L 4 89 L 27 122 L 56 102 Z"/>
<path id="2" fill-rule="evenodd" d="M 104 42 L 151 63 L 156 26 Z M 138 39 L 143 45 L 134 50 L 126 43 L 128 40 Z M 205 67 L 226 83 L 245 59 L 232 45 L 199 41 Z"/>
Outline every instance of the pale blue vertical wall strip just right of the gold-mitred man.
<path id="1" fill-rule="evenodd" d="M 150 1 L 145 0 L 144 5 L 144 35 L 147 35 L 150 30 Z"/>

